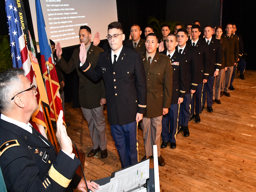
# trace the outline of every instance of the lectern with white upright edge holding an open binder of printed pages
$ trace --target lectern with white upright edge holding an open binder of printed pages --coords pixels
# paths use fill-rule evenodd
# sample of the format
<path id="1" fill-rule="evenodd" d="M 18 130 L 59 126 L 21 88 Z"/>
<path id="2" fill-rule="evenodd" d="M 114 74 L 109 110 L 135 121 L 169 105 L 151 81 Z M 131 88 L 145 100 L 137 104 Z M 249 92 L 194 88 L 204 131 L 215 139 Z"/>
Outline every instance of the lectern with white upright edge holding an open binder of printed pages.
<path id="1" fill-rule="evenodd" d="M 149 169 L 149 159 L 125 167 L 111 177 L 95 180 L 98 192 L 160 192 L 157 147 L 153 146 L 154 169 Z"/>

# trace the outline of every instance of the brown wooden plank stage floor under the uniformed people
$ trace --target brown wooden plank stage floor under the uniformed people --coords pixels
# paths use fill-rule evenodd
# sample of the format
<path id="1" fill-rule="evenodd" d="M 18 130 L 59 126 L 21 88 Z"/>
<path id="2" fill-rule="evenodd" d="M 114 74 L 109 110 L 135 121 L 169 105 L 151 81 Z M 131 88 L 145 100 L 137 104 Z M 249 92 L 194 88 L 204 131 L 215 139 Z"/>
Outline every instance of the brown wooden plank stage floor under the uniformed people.
<path id="1" fill-rule="evenodd" d="M 238 73 L 239 74 L 239 73 Z M 159 166 L 160 191 L 255 192 L 256 191 L 256 71 L 245 71 L 245 80 L 236 74 L 231 97 L 220 98 L 213 112 L 204 109 L 201 122 L 189 122 L 189 137 L 177 135 L 175 149 L 161 149 L 165 166 Z M 206 108 L 206 105 L 205 105 Z M 121 169 L 111 136 L 107 110 L 106 135 L 108 157 L 100 153 L 88 158 L 92 149 L 87 121 L 81 108 L 65 103 L 68 135 L 86 154 L 84 172 L 87 180 L 108 177 Z M 139 160 L 145 155 L 142 130 L 138 129 Z M 162 142 L 162 141 L 161 141 Z M 160 143 L 161 144 L 161 143 Z M 150 168 L 153 168 L 150 160 Z"/>

